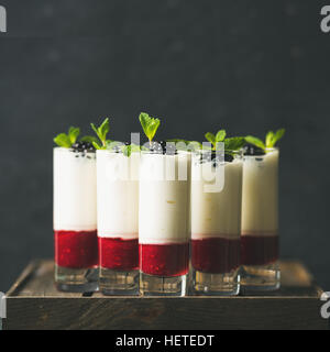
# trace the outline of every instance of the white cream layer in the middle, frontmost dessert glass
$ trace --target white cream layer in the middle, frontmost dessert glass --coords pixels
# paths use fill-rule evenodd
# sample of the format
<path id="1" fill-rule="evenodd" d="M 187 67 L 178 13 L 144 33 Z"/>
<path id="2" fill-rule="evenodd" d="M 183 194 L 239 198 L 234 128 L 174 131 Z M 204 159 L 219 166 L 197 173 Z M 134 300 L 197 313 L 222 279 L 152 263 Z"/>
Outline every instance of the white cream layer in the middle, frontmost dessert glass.
<path id="1" fill-rule="evenodd" d="M 179 153 L 178 155 L 142 154 L 140 164 L 140 243 L 166 244 L 189 241 L 189 153 Z"/>

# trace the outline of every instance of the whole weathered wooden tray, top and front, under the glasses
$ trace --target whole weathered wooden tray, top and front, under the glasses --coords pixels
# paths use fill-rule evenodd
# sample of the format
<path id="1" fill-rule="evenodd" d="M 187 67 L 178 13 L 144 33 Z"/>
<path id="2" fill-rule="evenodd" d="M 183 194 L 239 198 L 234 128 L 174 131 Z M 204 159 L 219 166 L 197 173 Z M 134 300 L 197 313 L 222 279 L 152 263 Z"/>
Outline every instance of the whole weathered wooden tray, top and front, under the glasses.
<path id="1" fill-rule="evenodd" d="M 53 262 L 34 261 L 7 294 L 3 329 L 328 329 L 322 289 L 300 263 L 280 266 L 276 293 L 141 298 L 59 293 Z"/>

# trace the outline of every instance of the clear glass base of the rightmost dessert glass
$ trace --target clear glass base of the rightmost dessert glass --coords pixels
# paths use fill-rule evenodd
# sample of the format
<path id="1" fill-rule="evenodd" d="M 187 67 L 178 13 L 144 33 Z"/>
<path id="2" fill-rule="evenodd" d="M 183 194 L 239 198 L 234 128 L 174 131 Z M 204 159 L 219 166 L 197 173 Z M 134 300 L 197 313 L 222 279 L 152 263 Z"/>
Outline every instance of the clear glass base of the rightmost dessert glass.
<path id="1" fill-rule="evenodd" d="M 241 285 L 244 293 L 278 289 L 280 287 L 278 263 L 243 265 L 241 270 Z"/>

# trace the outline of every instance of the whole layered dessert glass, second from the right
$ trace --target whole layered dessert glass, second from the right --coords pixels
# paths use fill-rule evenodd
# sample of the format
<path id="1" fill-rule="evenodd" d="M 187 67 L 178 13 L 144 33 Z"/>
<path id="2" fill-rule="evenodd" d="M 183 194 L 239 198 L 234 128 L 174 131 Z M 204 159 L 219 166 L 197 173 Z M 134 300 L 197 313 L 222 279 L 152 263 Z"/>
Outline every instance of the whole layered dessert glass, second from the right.
<path id="1" fill-rule="evenodd" d="M 240 290 L 242 156 L 197 151 L 191 163 L 193 289 L 204 295 Z"/>

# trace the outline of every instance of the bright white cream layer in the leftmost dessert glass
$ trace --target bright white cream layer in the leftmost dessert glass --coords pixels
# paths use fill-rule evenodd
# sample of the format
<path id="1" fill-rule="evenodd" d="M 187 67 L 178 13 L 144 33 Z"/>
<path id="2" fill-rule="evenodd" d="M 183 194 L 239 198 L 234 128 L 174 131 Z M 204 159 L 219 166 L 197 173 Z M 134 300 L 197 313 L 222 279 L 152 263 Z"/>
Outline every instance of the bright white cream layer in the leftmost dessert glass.
<path id="1" fill-rule="evenodd" d="M 94 153 L 82 156 L 54 148 L 54 230 L 97 229 L 97 180 Z"/>

